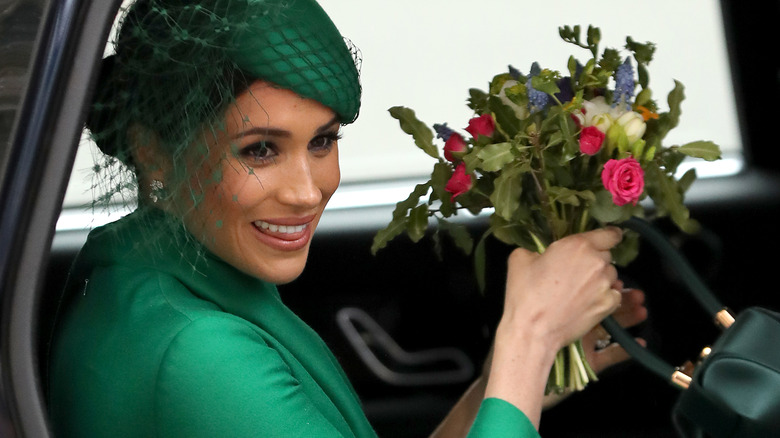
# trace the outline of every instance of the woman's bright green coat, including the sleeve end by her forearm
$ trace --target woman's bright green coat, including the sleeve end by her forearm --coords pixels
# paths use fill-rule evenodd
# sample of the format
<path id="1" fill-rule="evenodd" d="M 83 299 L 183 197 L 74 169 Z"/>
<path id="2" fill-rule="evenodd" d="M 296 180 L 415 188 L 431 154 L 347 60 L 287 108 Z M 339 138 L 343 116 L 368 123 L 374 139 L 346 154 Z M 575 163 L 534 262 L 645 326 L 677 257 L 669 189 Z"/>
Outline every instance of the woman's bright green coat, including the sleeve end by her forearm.
<path id="1" fill-rule="evenodd" d="M 55 436 L 376 436 L 328 347 L 276 287 L 166 223 L 133 213 L 80 252 L 50 360 Z M 536 435 L 501 400 L 483 403 L 477 423 L 475 436 Z"/>

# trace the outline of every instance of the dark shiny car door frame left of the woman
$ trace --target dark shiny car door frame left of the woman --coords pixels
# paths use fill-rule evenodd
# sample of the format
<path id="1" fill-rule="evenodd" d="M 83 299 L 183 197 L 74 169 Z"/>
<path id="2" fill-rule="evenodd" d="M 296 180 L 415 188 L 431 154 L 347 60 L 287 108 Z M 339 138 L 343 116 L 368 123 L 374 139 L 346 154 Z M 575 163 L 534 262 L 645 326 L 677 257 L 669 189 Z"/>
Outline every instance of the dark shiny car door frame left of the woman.
<path id="1" fill-rule="evenodd" d="M 88 99 L 120 4 L 48 2 L 0 168 L 0 370 L 18 436 L 50 436 L 38 308 Z"/>

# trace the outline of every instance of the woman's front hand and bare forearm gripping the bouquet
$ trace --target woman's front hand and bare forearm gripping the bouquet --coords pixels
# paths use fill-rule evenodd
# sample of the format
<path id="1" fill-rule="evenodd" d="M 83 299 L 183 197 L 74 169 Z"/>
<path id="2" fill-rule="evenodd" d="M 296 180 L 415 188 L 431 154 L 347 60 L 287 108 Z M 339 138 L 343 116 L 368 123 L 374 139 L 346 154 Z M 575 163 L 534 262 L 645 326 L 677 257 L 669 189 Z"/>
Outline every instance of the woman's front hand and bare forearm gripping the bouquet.
<path id="1" fill-rule="evenodd" d="M 610 249 L 621 238 L 619 229 L 606 228 L 558 240 L 541 255 L 512 252 L 486 397 L 514 404 L 538 425 L 556 352 L 620 304 Z"/>

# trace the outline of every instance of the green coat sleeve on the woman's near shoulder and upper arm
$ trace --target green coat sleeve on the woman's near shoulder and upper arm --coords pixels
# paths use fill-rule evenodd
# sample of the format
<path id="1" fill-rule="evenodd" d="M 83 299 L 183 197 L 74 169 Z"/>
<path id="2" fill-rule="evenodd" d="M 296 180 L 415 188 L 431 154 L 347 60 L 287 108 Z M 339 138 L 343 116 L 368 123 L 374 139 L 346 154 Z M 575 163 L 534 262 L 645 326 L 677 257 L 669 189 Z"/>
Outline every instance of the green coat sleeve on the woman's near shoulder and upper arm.
<path id="1" fill-rule="evenodd" d="M 343 436 L 259 334 L 219 317 L 171 342 L 150 421 L 160 438 Z"/>

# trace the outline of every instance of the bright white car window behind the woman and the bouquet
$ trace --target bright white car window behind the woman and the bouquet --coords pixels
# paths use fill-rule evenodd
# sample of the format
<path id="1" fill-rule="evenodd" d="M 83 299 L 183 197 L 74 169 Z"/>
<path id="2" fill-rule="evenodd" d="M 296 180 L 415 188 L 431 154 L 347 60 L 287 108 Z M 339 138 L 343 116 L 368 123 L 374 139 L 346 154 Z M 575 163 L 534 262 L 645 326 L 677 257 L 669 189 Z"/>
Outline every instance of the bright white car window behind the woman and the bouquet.
<path id="1" fill-rule="evenodd" d="M 344 128 L 339 144 L 343 187 L 423 179 L 430 173 L 430 158 L 401 131 L 388 108 L 408 106 L 429 125 L 446 122 L 459 129 L 471 116 L 468 89 L 484 89 L 508 64 L 527 72 L 538 61 L 563 72 L 569 55 L 587 59 L 585 49 L 560 39 L 562 25 L 600 27 L 602 48 L 622 48 L 626 36 L 656 43 L 650 64 L 651 87 L 658 93 L 654 97 L 664 104 L 675 79 L 686 87 L 680 126 L 667 142 L 713 140 L 727 155 L 739 157 L 741 140 L 719 2 L 659 0 L 631 7 L 612 0 L 595 4 L 496 0 L 484 3 L 489 7 L 466 0 L 320 3 L 363 57 L 360 117 Z M 83 143 L 66 207 L 92 199 L 90 167 L 93 154 L 99 152 Z M 734 173 L 740 163 L 722 160 L 699 175 Z M 387 192 L 387 202 L 405 197 L 408 187 Z M 339 196 L 337 192 L 334 205 L 344 199 Z"/>

